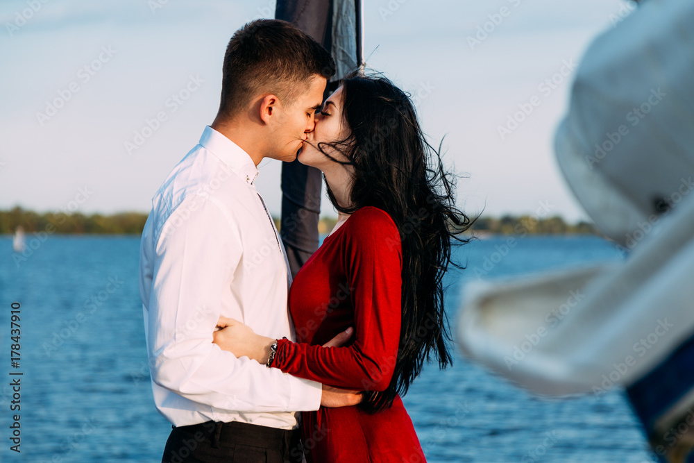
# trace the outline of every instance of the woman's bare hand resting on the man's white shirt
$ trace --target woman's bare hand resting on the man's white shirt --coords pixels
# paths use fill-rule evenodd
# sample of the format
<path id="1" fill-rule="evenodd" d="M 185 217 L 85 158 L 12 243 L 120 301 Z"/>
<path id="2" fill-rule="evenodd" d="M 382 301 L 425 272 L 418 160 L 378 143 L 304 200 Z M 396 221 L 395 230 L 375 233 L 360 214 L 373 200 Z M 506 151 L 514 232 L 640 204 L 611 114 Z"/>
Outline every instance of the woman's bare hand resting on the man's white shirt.
<path id="1" fill-rule="evenodd" d="M 266 364 L 270 357 L 270 346 L 276 339 L 256 335 L 255 332 L 235 319 L 219 317 L 217 326 L 221 328 L 212 333 L 212 342 L 222 351 L 229 351 L 236 357 L 248 357 L 260 364 Z"/>

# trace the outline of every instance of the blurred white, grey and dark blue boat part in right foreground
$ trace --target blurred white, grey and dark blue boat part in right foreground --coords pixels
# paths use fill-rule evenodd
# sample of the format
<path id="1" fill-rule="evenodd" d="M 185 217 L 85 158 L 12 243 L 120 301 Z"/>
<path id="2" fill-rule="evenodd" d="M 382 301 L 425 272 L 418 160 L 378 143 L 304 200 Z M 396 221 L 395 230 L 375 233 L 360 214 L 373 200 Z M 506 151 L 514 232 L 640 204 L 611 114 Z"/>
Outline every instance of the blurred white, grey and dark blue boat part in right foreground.
<path id="1" fill-rule="evenodd" d="M 469 283 L 466 355 L 539 394 L 618 385 L 663 462 L 694 462 L 694 2 L 648 0 L 579 65 L 557 162 L 625 262 Z"/>

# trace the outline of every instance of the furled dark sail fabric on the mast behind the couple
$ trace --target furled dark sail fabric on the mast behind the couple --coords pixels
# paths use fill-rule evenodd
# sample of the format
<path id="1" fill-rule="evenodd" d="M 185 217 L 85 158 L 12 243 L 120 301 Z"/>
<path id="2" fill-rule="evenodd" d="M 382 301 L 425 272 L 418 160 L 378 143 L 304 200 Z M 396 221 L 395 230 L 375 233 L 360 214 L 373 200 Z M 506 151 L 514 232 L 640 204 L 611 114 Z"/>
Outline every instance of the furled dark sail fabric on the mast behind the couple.
<path id="1" fill-rule="evenodd" d="M 323 100 L 337 88 L 347 71 L 361 61 L 358 0 L 278 0 L 275 18 L 291 22 L 325 47 L 335 60 Z M 292 276 L 318 249 L 321 213 L 321 171 L 298 160 L 282 163 L 282 222 L 280 236 Z"/>

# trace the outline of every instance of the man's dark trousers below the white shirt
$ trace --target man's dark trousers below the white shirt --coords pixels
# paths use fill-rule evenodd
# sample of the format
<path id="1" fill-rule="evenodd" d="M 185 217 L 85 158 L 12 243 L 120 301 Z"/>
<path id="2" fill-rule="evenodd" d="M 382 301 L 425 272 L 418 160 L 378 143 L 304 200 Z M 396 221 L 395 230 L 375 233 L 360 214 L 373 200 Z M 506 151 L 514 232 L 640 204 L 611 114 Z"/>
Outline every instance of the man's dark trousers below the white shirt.
<path id="1" fill-rule="evenodd" d="M 162 463 L 301 463 L 301 431 L 207 421 L 176 426 Z"/>

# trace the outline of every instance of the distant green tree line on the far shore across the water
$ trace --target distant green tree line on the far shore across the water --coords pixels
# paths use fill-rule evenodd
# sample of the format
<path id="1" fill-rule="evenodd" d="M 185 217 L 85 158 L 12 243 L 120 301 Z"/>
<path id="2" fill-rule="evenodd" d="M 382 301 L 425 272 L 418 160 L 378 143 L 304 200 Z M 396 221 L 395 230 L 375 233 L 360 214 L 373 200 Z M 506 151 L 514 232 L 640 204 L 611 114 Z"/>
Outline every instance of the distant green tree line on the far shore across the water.
<path id="1" fill-rule="evenodd" d="M 47 232 L 58 234 L 114 234 L 139 235 L 142 233 L 147 214 L 142 212 L 119 212 L 118 214 L 65 214 L 63 212 L 37 213 L 24 210 L 19 206 L 10 210 L 0 210 L 0 234 L 15 233 L 18 226 L 25 233 Z M 275 225 L 280 228 L 280 219 L 274 218 Z M 319 224 L 321 233 L 330 233 L 337 219 L 324 217 Z M 567 224 L 560 216 L 536 219 L 530 215 L 503 217 L 482 216 L 475 221 L 471 231 L 484 235 L 573 235 L 595 234 L 593 224 L 579 221 L 577 224 Z"/>

